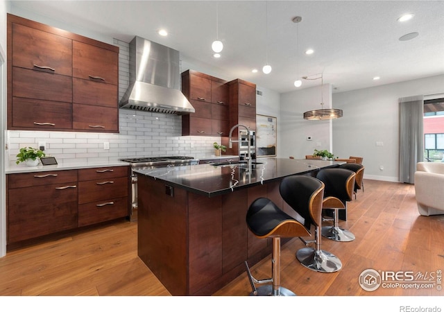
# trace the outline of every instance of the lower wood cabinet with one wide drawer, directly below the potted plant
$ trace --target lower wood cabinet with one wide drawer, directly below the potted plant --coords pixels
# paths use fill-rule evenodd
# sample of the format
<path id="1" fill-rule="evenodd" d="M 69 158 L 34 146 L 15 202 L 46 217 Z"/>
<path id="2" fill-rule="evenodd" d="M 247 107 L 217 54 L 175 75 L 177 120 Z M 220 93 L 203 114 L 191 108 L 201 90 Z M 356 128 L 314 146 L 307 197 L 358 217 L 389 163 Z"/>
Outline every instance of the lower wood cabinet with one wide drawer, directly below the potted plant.
<path id="1" fill-rule="evenodd" d="M 7 243 L 77 227 L 77 171 L 7 175 Z"/>

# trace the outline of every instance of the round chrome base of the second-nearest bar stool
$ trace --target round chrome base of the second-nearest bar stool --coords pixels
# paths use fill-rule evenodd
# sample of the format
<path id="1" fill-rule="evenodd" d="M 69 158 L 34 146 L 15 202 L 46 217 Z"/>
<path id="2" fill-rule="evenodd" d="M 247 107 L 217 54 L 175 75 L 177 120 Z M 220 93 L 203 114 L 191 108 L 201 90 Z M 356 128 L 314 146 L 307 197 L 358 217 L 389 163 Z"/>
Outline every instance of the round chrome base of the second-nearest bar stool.
<path id="1" fill-rule="evenodd" d="M 296 258 L 306 268 L 316 272 L 331 273 L 341 270 L 342 262 L 334 254 L 311 247 L 296 252 Z"/>

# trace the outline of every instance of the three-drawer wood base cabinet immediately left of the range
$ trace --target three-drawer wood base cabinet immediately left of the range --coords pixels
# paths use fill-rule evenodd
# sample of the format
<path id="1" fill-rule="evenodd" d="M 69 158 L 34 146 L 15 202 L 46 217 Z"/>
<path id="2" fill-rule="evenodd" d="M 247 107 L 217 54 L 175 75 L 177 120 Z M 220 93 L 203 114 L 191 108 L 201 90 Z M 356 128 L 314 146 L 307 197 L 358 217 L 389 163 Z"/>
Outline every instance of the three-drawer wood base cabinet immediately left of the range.
<path id="1" fill-rule="evenodd" d="M 129 166 L 78 171 L 78 226 L 129 215 Z"/>

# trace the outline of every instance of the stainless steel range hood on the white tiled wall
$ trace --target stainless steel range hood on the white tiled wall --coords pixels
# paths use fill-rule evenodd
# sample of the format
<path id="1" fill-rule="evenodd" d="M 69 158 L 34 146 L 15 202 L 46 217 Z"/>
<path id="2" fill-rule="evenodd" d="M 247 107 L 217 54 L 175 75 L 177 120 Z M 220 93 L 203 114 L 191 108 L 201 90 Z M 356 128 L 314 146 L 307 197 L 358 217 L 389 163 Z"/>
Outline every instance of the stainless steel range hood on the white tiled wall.
<path id="1" fill-rule="evenodd" d="M 130 86 L 120 108 L 165 114 L 194 113 L 180 91 L 179 51 L 142 37 L 130 42 Z"/>

